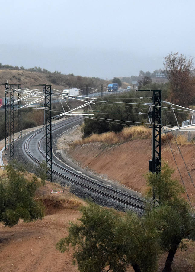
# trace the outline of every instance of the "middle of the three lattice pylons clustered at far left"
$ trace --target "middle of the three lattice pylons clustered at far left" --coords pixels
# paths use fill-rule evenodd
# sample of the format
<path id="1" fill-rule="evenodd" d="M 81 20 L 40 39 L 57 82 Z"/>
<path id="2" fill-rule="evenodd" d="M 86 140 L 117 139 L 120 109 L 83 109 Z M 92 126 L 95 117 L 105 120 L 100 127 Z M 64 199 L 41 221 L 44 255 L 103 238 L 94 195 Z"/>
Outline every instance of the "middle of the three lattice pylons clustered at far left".
<path id="1" fill-rule="evenodd" d="M 14 159 L 14 84 L 10 84 L 10 160 Z"/>

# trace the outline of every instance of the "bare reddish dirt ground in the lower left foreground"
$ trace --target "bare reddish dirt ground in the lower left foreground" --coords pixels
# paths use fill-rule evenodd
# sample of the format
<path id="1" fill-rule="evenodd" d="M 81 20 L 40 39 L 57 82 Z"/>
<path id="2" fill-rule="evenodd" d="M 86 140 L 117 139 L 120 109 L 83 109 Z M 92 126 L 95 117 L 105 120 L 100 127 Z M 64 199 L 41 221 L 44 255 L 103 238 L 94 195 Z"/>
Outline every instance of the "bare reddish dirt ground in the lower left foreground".
<path id="1" fill-rule="evenodd" d="M 72 266 L 72 250 L 60 253 L 55 245 L 67 235 L 69 221 L 80 216 L 78 204 L 83 203 L 72 194 L 50 194 L 53 184 L 47 182 L 37 197 L 47 207 L 46 216 L 36 222 L 22 220 L 12 228 L 0 224 L 0 271 L 78 271 Z"/>

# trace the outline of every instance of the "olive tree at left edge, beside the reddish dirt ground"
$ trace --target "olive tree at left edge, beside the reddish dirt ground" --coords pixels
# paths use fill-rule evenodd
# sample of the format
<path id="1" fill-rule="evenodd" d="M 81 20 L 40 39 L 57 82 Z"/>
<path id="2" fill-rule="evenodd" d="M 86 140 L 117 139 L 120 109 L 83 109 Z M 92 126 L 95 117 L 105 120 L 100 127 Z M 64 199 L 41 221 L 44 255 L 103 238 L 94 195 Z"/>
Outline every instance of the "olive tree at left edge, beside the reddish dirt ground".
<path id="1" fill-rule="evenodd" d="M 27 180 L 25 173 L 11 164 L 5 173 L 5 178 L 0 180 L 0 222 L 12 227 L 19 219 L 29 222 L 43 218 L 44 207 L 34 200 L 35 190 L 41 185 L 37 176 Z"/>

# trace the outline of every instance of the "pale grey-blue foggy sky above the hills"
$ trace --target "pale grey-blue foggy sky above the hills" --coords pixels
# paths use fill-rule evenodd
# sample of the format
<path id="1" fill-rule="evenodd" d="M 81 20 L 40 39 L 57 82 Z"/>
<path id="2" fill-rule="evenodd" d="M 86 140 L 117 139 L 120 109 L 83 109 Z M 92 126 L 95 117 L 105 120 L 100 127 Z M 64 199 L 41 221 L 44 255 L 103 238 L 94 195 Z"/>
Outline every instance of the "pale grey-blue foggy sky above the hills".
<path id="1" fill-rule="evenodd" d="M 194 1 L 8 0 L 0 62 L 111 79 L 163 68 L 168 53 L 195 56 Z"/>

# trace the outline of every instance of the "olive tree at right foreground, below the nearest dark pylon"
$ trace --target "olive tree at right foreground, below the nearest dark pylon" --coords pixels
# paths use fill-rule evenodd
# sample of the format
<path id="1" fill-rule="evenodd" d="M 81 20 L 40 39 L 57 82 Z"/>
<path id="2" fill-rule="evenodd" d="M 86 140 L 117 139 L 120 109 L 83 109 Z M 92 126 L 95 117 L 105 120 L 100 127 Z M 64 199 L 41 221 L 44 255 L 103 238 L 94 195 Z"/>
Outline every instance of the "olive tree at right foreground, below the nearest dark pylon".
<path id="1" fill-rule="evenodd" d="M 163 272 L 171 271 L 178 246 L 195 231 L 190 206 L 181 197 L 184 188 L 177 180 L 171 178 L 173 173 L 174 170 L 164 163 L 161 172 L 149 172 L 146 175 L 150 187 L 149 195 L 154 193 L 156 200 L 156 207 L 149 211 L 149 217 L 154 218 L 156 227 L 161 230 L 161 248 L 168 251 Z"/>

